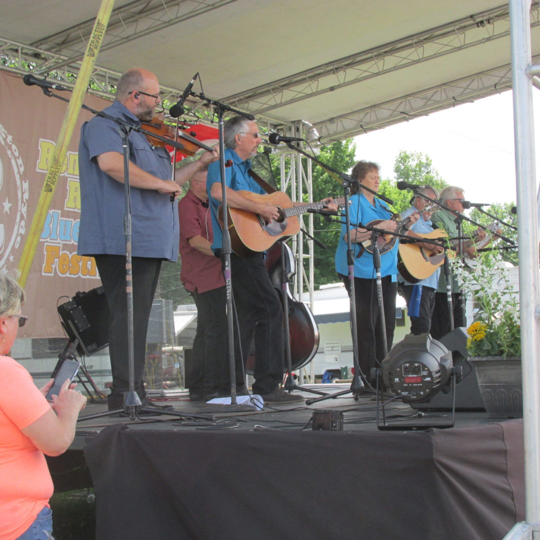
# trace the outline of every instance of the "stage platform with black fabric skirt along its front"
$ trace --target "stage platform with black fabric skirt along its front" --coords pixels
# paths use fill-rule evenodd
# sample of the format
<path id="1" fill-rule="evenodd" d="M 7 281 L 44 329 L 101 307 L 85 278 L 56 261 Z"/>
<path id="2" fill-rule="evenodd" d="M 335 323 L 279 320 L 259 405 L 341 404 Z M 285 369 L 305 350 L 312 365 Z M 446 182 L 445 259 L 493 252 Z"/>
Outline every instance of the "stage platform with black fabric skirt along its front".
<path id="1" fill-rule="evenodd" d="M 82 460 L 84 449 L 78 482 L 87 465 L 100 540 L 496 540 L 524 518 L 521 420 L 470 410 L 456 413 L 454 428 L 380 431 L 370 394 L 255 412 L 170 403 L 182 418 L 79 422 L 68 454 Z M 90 404 L 83 415 L 104 409 Z M 312 430 L 321 409 L 342 411 L 343 430 Z M 386 407 L 389 423 L 450 420 L 417 414 Z"/>

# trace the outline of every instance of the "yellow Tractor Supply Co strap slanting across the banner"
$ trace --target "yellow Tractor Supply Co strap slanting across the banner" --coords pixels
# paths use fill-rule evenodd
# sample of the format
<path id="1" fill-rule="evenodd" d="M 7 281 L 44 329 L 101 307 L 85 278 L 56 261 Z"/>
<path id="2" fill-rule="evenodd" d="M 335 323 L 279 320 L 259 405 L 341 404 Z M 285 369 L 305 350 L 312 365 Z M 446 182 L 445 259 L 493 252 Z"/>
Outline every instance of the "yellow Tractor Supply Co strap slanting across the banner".
<path id="1" fill-rule="evenodd" d="M 49 212 L 52 196 L 55 193 L 58 177 L 60 176 L 60 171 L 62 170 L 64 159 L 68 152 L 71 136 L 75 129 L 75 124 L 77 123 L 80 107 L 83 104 L 84 95 L 90 81 L 90 75 L 92 74 L 92 69 L 96 63 L 96 57 L 105 35 L 105 29 L 107 28 L 107 24 L 109 24 L 113 5 L 114 0 L 102 0 L 84 58 L 80 64 L 77 82 L 73 88 L 68 110 L 65 113 L 64 121 L 60 128 L 58 143 L 52 154 L 51 164 L 45 177 L 42 192 L 39 195 L 36 212 L 33 215 L 32 224 L 28 232 L 28 237 L 26 237 L 21 260 L 19 261 L 18 270 L 21 273 L 19 284 L 21 284 L 22 287 L 26 285 L 26 280 L 30 273 L 39 238 L 43 231 L 43 225 L 45 224 L 45 219 Z"/>

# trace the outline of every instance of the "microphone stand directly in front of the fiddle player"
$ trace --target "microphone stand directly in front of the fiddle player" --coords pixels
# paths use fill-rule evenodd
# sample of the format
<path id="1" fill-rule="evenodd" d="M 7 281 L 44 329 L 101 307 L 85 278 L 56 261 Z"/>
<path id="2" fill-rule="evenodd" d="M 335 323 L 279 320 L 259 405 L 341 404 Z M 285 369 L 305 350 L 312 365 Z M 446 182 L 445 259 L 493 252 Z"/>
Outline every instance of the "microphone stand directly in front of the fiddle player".
<path id="1" fill-rule="evenodd" d="M 51 92 L 48 89 L 43 88 L 43 93 L 48 97 L 55 97 L 61 99 L 62 101 L 68 102 L 69 99 L 66 99 L 62 96 L 58 96 L 55 93 Z M 150 407 L 142 407 L 139 395 L 135 391 L 135 360 L 133 352 L 133 276 L 132 276 L 132 258 L 131 258 L 131 191 L 130 191 L 130 174 L 129 174 L 129 164 L 130 164 L 130 149 L 128 143 L 128 137 L 131 131 L 140 131 L 142 133 L 151 134 L 153 138 L 163 139 L 170 144 L 165 137 L 155 136 L 153 133 L 147 132 L 143 129 L 140 129 L 139 126 L 127 122 L 122 118 L 116 118 L 110 116 L 109 114 L 104 113 L 103 111 L 96 111 L 91 109 L 86 105 L 82 105 L 82 109 L 90 111 L 95 114 L 95 116 L 101 116 L 112 120 L 115 124 L 118 125 L 118 132 L 122 137 L 122 150 L 124 157 L 124 198 L 125 198 L 125 215 L 124 215 L 124 235 L 125 235 L 125 248 L 126 248 L 126 298 L 127 298 L 127 356 L 128 356 L 128 367 L 129 367 L 129 392 L 124 393 L 124 408 L 117 409 L 112 411 L 107 411 L 106 413 L 92 414 L 88 416 L 79 417 L 77 422 L 82 422 L 85 420 L 91 420 L 103 416 L 114 416 L 118 413 L 125 413 L 129 415 L 131 420 L 139 417 L 140 411 L 149 411 L 153 414 L 166 414 L 168 416 L 176 417 L 186 417 L 190 416 L 192 418 L 199 418 L 203 420 L 214 420 L 213 415 L 204 414 L 204 415 L 195 415 L 195 414 L 186 414 L 179 413 L 178 411 L 171 410 L 159 410 Z"/>

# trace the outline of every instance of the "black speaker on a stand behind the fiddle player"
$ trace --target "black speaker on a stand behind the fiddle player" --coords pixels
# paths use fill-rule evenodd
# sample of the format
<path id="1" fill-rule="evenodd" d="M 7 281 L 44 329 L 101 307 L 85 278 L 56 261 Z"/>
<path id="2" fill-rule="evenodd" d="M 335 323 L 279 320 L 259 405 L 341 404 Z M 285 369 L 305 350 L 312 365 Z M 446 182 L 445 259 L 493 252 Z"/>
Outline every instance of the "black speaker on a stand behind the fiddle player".
<path id="1" fill-rule="evenodd" d="M 109 345 L 109 307 L 103 287 L 78 292 L 58 306 L 62 325 L 79 355 L 90 356 Z"/>

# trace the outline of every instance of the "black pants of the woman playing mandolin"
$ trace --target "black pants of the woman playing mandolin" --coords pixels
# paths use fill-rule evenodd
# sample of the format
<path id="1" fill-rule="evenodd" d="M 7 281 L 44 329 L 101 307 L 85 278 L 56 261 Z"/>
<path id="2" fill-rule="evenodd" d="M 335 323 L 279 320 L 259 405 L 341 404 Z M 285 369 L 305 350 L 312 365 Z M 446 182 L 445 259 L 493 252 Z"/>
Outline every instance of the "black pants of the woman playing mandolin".
<path id="1" fill-rule="evenodd" d="M 349 279 L 340 275 L 350 296 Z M 371 370 L 380 367 L 384 355 L 392 349 L 394 329 L 396 327 L 396 294 L 397 284 L 392 276 L 381 279 L 382 300 L 384 305 L 384 322 L 377 301 L 377 282 L 374 279 L 354 278 L 354 294 L 356 300 L 356 331 L 358 334 L 358 363 L 366 379 L 371 380 Z M 384 334 L 388 350 L 384 350 Z"/>

